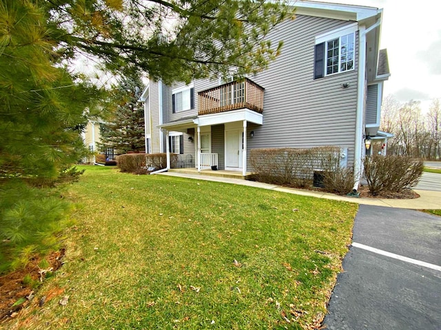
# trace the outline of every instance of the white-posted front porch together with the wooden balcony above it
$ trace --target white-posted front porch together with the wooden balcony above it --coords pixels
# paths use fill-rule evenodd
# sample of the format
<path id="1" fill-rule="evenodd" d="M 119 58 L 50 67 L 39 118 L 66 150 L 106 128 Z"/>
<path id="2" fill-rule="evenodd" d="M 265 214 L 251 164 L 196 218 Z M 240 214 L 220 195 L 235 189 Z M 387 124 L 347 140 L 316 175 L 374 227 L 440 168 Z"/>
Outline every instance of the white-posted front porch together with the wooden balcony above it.
<path id="1" fill-rule="evenodd" d="M 247 177 L 248 125 L 263 124 L 263 87 L 247 78 L 198 92 L 198 115 L 181 118 L 158 127 L 165 133 L 166 151 L 185 153 L 178 158 L 177 167 L 192 168 L 204 173 L 218 173 L 219 176 Z M 186 134 L 177 148 L 170 140 L 171 135 Z M 184 140 L 187 144 L 184 143 Z M 189 142 L 187 142 L 187 140 Z M 172 144 L 172 148 L 170 148 Z M 188 148 L 194 151 L 188 152 Z M 191 158 L 191 159 L 190 159 Z M 193 171 L 193 169 L 192 169 Z"/>

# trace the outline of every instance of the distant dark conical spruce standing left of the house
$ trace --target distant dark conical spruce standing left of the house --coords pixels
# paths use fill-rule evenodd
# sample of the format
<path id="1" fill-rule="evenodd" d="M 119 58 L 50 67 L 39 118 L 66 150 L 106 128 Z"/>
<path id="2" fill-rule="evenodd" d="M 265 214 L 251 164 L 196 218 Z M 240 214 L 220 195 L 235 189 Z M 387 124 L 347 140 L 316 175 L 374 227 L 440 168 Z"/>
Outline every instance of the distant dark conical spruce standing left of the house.
<path id="1" fill-rule="evenodd" d="M 145 146 L 144 112 L 138 102 L 143 83 L 139 78 L 125 78 L 112 89 L 113 115 L 101 124 L 99 149 L 114 148 L 121 155 L 143 151 Z"/>

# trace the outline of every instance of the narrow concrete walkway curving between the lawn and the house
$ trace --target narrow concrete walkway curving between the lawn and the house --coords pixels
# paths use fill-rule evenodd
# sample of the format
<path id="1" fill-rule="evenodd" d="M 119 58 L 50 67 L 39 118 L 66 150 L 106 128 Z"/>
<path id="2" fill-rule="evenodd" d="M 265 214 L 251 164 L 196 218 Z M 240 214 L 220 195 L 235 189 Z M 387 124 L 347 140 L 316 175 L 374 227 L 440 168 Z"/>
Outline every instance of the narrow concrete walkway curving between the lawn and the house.
<path id="1" fill-rule="evenodd" d="M 247 181 L 243 179 L 232 179 L 228 177 L 211 177 L 208 175 L 185 174 L 185 173 L 171 173 L 164 172 L 161 175 L 170 175 L 174 177 L 187 177 L 190 179 L 199 179 L 207 181 L 226 182 L 230 184 L 240 184 L 242 186 L 252 186 L 256 188 L 263 188 L 269 190 L 276 190 L 281 192 L 288 192 L 290 194 L 311 196 L 318 198 L 334 199 L 337 201 L 349 201 L 351 203 L 359 203 L 373 206 L 385 206 L 390 208 L 409 208 L 413 210 L 441 210 L 441 191 L 431 190 L 414 190 L 420 198 L 416 199 L 382 199 L 382 198 L 354 198 L 330 194 L 328 192 L 320 192 L 313 190 L 303 190 L 276 186 L 275 184 L 264 184 L 262 182 Z"/>

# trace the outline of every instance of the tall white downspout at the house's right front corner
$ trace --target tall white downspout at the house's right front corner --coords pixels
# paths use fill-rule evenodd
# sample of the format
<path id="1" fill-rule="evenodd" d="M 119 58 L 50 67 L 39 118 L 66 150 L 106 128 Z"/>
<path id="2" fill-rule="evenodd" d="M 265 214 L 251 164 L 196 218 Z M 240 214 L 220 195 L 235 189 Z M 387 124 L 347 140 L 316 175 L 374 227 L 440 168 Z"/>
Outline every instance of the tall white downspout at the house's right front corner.
<path id="1" fill-rule="evenodd" d="M 366 86 L 366 34 L 378 28 L 381 24 L 381 18 L 369 29 L 365 26 L 360 26 L 359 31 L 359 46 L 358 46 L 358 85 L 357 85 L 357 113 L 356 113 L 356 148 L 353 157 L 353 170 L 355 175 L 355 182 L 353 184 L 353 192 L 358 190 L 360 180 L 362 177 L 362 147 L 364 137 L 364 123 L 363 113 L 365 109 L 365 86 Z"/>

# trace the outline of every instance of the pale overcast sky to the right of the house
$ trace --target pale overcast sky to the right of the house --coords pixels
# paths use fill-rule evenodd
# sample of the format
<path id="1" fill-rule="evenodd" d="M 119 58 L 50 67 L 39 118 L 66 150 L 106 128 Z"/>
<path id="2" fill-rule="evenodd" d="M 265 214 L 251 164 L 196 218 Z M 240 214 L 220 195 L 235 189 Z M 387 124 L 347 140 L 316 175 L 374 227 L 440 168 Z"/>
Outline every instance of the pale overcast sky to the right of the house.
<path id="1" fill-rule="evenodd" d="M 321 0 L 383 9 L 380 47 L 387 48 L 391 76 L 384 96 L 421 101 L 423 112 L 441 98 L 441 1 Z"/>

